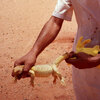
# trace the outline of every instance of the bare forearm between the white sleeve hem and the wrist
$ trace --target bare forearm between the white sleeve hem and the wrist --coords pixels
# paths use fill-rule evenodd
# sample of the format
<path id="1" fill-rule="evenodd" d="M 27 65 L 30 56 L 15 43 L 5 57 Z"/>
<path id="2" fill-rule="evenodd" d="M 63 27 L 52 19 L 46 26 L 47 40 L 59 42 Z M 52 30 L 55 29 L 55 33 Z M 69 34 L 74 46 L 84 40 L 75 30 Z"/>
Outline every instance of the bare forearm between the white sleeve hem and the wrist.
<path id="1" fill-rule="evenodd" d="M 63 20 L 51 17 L 50 20 L 42 28 L 31 52 L 38 56 L 46 46 L 48 46 L 58 35 Z"/>

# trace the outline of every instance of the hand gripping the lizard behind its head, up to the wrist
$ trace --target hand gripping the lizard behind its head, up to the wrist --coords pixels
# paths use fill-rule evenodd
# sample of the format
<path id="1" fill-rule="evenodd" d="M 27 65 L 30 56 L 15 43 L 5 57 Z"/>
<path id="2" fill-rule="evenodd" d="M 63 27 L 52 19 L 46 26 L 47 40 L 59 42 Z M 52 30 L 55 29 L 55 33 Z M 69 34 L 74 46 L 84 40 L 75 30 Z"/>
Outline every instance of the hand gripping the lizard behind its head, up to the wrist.
<path id="1" fill-rule="evenodd" d="M 36 62 L 36 56 L 33 55 L 32 52 L 29 52 L 25 56 L 21 57 L 20 59 L 16 60 L 14 63 L 14 67 L 19 65 L 24 65 L 24 69 L 21 75 L 18 76 L 18 79 L 28 77 L 28 72 L 31 67 Z M 12 72 L 12 76 L 15 77 L 14 71 Z"/>

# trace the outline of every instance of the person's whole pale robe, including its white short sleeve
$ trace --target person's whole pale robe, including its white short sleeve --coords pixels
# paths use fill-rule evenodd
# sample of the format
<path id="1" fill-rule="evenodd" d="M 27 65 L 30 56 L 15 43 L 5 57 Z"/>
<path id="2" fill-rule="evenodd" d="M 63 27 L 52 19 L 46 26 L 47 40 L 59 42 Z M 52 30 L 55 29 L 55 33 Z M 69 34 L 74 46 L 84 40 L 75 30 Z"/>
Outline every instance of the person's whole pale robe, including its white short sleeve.
<path id="1" fill-rule="evenodd" d="M 73 50 L 81 36 L 92 40 L 86 47 L 100 45 L 100 0 L 58 0 L 53 16 L 70 21 L 73 10 L 78 24 Z M 76 99 L 100 100 L 100 69 L 72 69 Z"/>

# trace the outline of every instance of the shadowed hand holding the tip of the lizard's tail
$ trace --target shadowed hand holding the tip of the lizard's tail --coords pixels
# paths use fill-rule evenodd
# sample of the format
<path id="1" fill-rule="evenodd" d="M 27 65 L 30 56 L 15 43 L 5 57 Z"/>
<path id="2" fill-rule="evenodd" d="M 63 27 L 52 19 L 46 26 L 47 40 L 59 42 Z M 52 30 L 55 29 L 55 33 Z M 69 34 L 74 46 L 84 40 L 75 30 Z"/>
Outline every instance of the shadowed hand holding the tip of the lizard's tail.
<path id="1" fill-rule="evenodd" d="M 69 58 L 65 61 L 79 69 L 93 68 L 100 64 L 100 54 L 91 56 L 83 52 L 77 54 L 75 52 L 70 52 Z"/>

